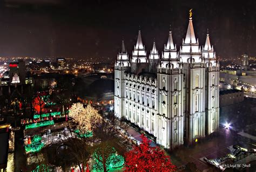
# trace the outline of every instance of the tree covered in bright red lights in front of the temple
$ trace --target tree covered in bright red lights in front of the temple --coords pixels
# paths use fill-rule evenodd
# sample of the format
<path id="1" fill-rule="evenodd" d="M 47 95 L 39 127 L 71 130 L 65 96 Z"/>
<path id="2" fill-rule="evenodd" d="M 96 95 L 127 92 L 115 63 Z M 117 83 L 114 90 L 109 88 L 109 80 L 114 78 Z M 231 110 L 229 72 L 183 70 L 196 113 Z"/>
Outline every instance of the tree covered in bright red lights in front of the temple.
<path id="1" fill-rule="evenodd" d="M 170 156 L 159 147 L 151 147 L 151 140 L 140 136 L 142 143 L 125 153 L 125 171 L 175 171 Z"/>

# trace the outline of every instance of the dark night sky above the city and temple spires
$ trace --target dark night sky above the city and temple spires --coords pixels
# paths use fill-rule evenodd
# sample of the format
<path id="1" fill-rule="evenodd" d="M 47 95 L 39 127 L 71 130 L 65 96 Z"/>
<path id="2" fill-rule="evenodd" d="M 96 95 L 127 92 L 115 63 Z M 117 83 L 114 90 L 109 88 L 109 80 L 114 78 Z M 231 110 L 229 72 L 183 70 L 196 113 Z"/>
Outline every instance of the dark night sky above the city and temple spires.
<path id="1" fill-rule="evenodd" d="M 0 2 L 0 56 L 116 58 L 122 37 L 131 53 L 138 29 L 149 52 L 163 51 L 169 25 L 177 47 L 188 10 L 200 45 L 207 28 L 220 58 L 256 56 L 256 2 L 151 0 L 4 0 Z"/>

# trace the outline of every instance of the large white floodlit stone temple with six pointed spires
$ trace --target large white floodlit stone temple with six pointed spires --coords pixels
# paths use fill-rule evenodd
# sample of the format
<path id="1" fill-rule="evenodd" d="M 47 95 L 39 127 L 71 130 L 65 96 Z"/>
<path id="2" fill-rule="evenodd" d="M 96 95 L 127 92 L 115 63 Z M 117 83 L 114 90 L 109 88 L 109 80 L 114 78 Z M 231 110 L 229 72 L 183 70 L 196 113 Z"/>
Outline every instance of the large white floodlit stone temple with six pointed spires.
<path id="1" fill-rule="evenodd" d="M 123 41 L 114 78 L 115 115 L 167 149 L 196 143 L 219 127 L 219 61 L 208 33 L 199 46 L 191 16 L 180 49 L 170 30 L 161 57 L 156 43 L 147 56 L 140 31 L 131 58 Z"/>

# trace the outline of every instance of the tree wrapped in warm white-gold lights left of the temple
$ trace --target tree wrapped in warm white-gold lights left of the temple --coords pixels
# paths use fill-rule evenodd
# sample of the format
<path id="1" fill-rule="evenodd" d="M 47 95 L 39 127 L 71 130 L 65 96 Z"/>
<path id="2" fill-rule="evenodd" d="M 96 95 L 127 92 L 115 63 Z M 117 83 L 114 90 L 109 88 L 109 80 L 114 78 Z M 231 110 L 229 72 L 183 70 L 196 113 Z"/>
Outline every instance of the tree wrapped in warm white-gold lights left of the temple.
<path id="1" fill-rule="evenodd" d="M 73 104 L 69 116 L 76 122 L 76 127 L 81 134 L 95 130 L 102 123 L 102 116 L 91 105 L 84 108 L 83 104 Z"/>

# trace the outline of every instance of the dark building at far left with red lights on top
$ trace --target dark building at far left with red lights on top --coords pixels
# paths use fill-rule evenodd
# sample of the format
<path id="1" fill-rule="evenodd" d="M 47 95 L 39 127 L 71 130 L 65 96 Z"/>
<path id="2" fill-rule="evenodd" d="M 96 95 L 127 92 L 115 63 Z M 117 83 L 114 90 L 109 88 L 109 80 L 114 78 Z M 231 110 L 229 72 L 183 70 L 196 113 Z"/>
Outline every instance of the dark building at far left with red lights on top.
<path id="1" fill-rule="evenodd" d="M 19 60 L 17 63 L 9 64 L 9 84 L 23 85 L 25 84 L 26 66 L 24 60 Z"/>

